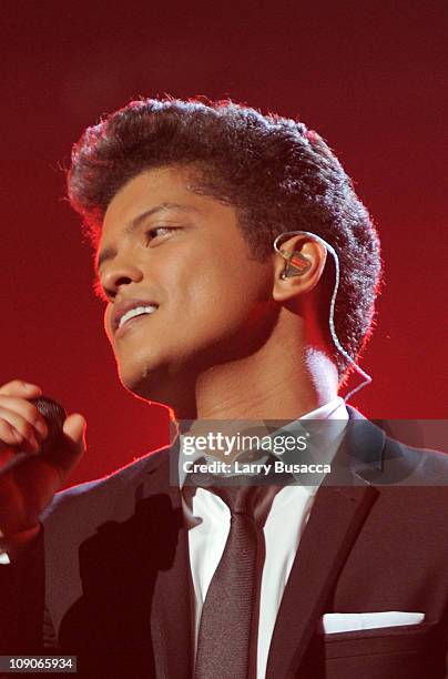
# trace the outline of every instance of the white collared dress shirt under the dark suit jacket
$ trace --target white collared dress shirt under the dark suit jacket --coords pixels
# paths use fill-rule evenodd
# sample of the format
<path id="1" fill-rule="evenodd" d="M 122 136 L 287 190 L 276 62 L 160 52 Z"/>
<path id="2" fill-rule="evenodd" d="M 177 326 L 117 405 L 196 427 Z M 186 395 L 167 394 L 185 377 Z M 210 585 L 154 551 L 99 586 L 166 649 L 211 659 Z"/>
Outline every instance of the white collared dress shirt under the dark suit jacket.
<path id="1" fill-rule="evenodd" d="M 335 420 L 336 426 L 332 429 L 334 445 L 326 447 L 326 462 L 330 462 L 348 420 L 348 413 L 343 398 L 337 397 L 312 413 L 307 413 L 299 420 L 283 427 L 282 432 L 294 429 L 294 427 L 305 427 L 299 423 L 306 419 Z M 266 675 L 267 656 L 275 620 L 316 490 L 316 485 L 283 487 L 275 495 L 263 527 L 265 560 L 259 598 L 257 679 L 264 679 Z M 183 491 L 182 506 L 185 525 L 189 529 L 190 568 L 195 602 L 196 648 L 202 607 L 225 548 L 231 513 L 221 497 L 206 488 L 197 488 L 189 498 L 187 494 Z"/>

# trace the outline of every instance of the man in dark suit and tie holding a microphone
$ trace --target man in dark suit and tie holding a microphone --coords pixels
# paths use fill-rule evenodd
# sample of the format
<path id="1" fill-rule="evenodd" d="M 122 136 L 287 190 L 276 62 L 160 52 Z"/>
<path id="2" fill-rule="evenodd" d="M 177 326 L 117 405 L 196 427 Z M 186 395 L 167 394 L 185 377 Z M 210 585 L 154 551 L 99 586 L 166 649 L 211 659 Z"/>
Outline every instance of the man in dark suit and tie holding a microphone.
<path id="1" fill-rule="evenodd" d="M 40 388 L 4 385 L 0 437 L 30 455 L 1 479 L 2 652 L 42 650 L 45 601 L 45 642 L 85 677 L 444 677 L 448 503 L 428 484 L 447 463 L 385 440 L 337 396 L 370 333 L 380 260 L 325 142 L 228 102 L 138 101 L 85 132 L 69 195 L 125 388 L 193 433 L 338 422 L 337 453 L 316 448 L 343 479 L 286 479 L 236 510 L 216 479 L 173 484 L 177 440 L 51 501 L 84 420 L 32 455 Z M 364 627 L 344 627 L 349 614 Z"/>

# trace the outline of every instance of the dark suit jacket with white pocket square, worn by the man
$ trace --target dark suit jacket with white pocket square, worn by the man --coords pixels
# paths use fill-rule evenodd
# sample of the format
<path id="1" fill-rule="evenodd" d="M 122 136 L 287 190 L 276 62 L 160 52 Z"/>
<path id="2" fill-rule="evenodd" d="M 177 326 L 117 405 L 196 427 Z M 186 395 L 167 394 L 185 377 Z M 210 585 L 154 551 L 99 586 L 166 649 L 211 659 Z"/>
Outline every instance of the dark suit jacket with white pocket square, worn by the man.
<path id="1" fill-rule="evenodd" d="M 445 677 L 448 456 L 387 439 L 349 414 L 337 453 L 343 478 L 317 491 L 266 677 Z M 43 526 L 23 557 L 1 567 L 1 652 L 42 652 L 45 600 L 52 625 L 45 619 L 44 629 L 54 629 L 61 652 L 78 655 L 82 677 L 189 679 L 189 548 L 170 450 L 60 494 Z M 324 612 L 386 610 L 421 611 L 425 622 L 319 629 Z"/>

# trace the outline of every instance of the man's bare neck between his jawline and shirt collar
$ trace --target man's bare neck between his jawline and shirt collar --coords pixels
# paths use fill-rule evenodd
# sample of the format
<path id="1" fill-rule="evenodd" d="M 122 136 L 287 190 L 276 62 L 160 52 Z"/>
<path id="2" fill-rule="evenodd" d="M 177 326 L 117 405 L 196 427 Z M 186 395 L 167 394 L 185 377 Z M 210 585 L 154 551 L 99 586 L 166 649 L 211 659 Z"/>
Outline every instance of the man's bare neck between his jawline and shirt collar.
<path id="1" fill-rule="evenodd" d="M 306 337 L 305 327 L 313 328 L 309 318 L 285 312 L 257 347 L 155 381 L 167 386 L 155 399 L 170 404 L 177 419 L 297 419 L 336 398 L 338 385 L 322 338 L 317 332 Z"/>

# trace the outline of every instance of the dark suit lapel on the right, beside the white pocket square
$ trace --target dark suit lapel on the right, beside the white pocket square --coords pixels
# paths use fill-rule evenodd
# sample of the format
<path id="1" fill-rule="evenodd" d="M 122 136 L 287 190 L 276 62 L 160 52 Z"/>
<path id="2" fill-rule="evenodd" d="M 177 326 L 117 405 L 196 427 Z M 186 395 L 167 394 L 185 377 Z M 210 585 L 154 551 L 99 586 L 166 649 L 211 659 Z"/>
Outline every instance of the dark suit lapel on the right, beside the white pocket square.
<path id="1" fill-rule="evenodd" d="M 329 476 L 316 494 L 277 615 L 266 679 L 293 677 L 298 671 L 378 494 L 363 474 L 380 467 L 384 434 L 353 408 L 349 415 L 347 433 L 334 459 L 339 469 L 338 485 L 330 485 Z"/>

